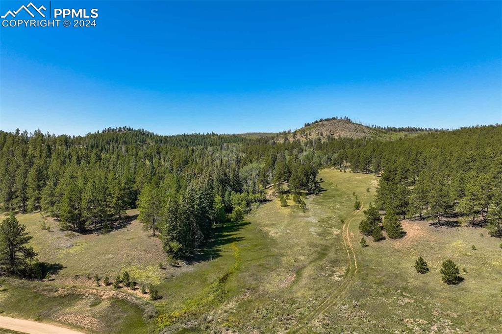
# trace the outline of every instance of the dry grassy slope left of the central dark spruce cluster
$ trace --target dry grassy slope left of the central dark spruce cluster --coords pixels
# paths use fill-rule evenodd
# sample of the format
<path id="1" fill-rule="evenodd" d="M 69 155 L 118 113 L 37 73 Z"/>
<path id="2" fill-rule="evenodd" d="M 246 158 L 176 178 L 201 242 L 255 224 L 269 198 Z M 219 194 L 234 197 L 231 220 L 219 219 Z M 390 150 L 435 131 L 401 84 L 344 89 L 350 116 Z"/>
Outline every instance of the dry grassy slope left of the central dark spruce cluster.
<path id="1" fill-rule="evenodd" d="M 158 284 L 167 275 L 180 272 L 165 266 L 161 242 L 142 230 L 141 223 L 135 220 L 138 212 L 130 210 L 128 214 L 129 219 L 108 234 L 60 231 L 57 222 L 40 213 L 18 215 L 18 220 L 33 236 L 31 245 L 39 259 L 64 267 L 54 276 L 53 283 L 58 285 L 89 287 L 94 285 L 95 274 L 113 279 L 123 270 L 140 282 Z M 44 221 L 50 232 L 41 228 Z"/>

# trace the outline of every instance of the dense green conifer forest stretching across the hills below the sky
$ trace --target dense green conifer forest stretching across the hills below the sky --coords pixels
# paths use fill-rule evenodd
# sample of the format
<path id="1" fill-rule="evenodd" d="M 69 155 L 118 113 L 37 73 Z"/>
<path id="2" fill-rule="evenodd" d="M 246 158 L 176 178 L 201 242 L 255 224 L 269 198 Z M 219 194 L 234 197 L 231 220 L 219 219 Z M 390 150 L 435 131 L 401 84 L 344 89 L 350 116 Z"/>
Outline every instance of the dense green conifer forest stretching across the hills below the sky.
<path id="1" fill-rule="evenodd" d="M 278 193 L 318 193 L 318 170 L 326 167 L 382 176 L 378 206 L 402 216 L 434 215 L 441 223 L 456 212 L 495 222 L 490 208 L 502 201 L 502 126 L 397 140 L 161 136 L 128 127 L 85 136 L 0 131 L 0 205 L 42 210 L 79 232 L 106 232 L 138 207 L 167 252 L 189 256 L 213 225 L 241 219 L 263 201 L 271 184 Z"/>

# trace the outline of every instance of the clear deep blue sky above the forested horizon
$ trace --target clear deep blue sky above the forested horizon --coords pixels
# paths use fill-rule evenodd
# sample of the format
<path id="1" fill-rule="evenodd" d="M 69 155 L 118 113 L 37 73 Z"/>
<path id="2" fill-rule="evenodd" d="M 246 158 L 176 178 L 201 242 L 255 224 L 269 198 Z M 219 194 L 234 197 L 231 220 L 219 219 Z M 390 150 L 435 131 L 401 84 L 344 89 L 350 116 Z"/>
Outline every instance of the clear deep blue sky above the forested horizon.
<path id="1" fill-rule="evenodd" d="M 49 8 L 48 1 L 35 1 Z M 0 2 L 0 12 L 25 2 Z M 282 131 L 320 117 L 502 123 L 501 2 L 67 2 L 0 28 L 0 129 Z"/>

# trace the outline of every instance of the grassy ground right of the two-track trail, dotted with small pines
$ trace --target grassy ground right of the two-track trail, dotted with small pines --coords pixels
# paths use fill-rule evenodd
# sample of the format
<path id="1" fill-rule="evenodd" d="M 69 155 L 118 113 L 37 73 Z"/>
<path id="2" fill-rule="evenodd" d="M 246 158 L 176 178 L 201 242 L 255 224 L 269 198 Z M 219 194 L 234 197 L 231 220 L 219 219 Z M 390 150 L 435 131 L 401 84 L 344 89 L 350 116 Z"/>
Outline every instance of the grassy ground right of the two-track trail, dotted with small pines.
<path id="1" fill-rule="evenodd" d="M 502 249 L 483 228 L 436 228 L 427 221 L 405 221 L 403 239 L 356 247 L 359 271 L 339 302 L 320 314 L 306 331 L 497 332 L 502 326 Z M 357 225 L 351 227 L 357 241 Z M 472 249 L 475 245 L 476 250 Z M 413 265 L 418 256 L 427 274 Z M 439 272 L 452 259 L 464 281 L 446 285 Z M 466 269 L 466 272 L 463 271 Z"/>

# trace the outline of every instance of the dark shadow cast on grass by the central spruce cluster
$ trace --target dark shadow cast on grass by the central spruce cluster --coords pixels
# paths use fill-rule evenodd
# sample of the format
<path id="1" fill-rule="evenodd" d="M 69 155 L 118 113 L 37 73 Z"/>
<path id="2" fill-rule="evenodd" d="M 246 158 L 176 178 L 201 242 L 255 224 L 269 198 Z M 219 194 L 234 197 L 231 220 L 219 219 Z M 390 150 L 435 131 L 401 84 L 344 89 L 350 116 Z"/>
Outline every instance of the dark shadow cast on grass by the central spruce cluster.
<path id="1" fill-rule="evenodd" d="M 214 260 L 221 256 L 222 246 L 244 240 L 244 237 L 237 236 L 237 232 L 249 225 L 249 222 L 225 223 L 215 227 L 213 235 L 197 254 L 189 259 L 190 262 L 202 262 Z"/>

